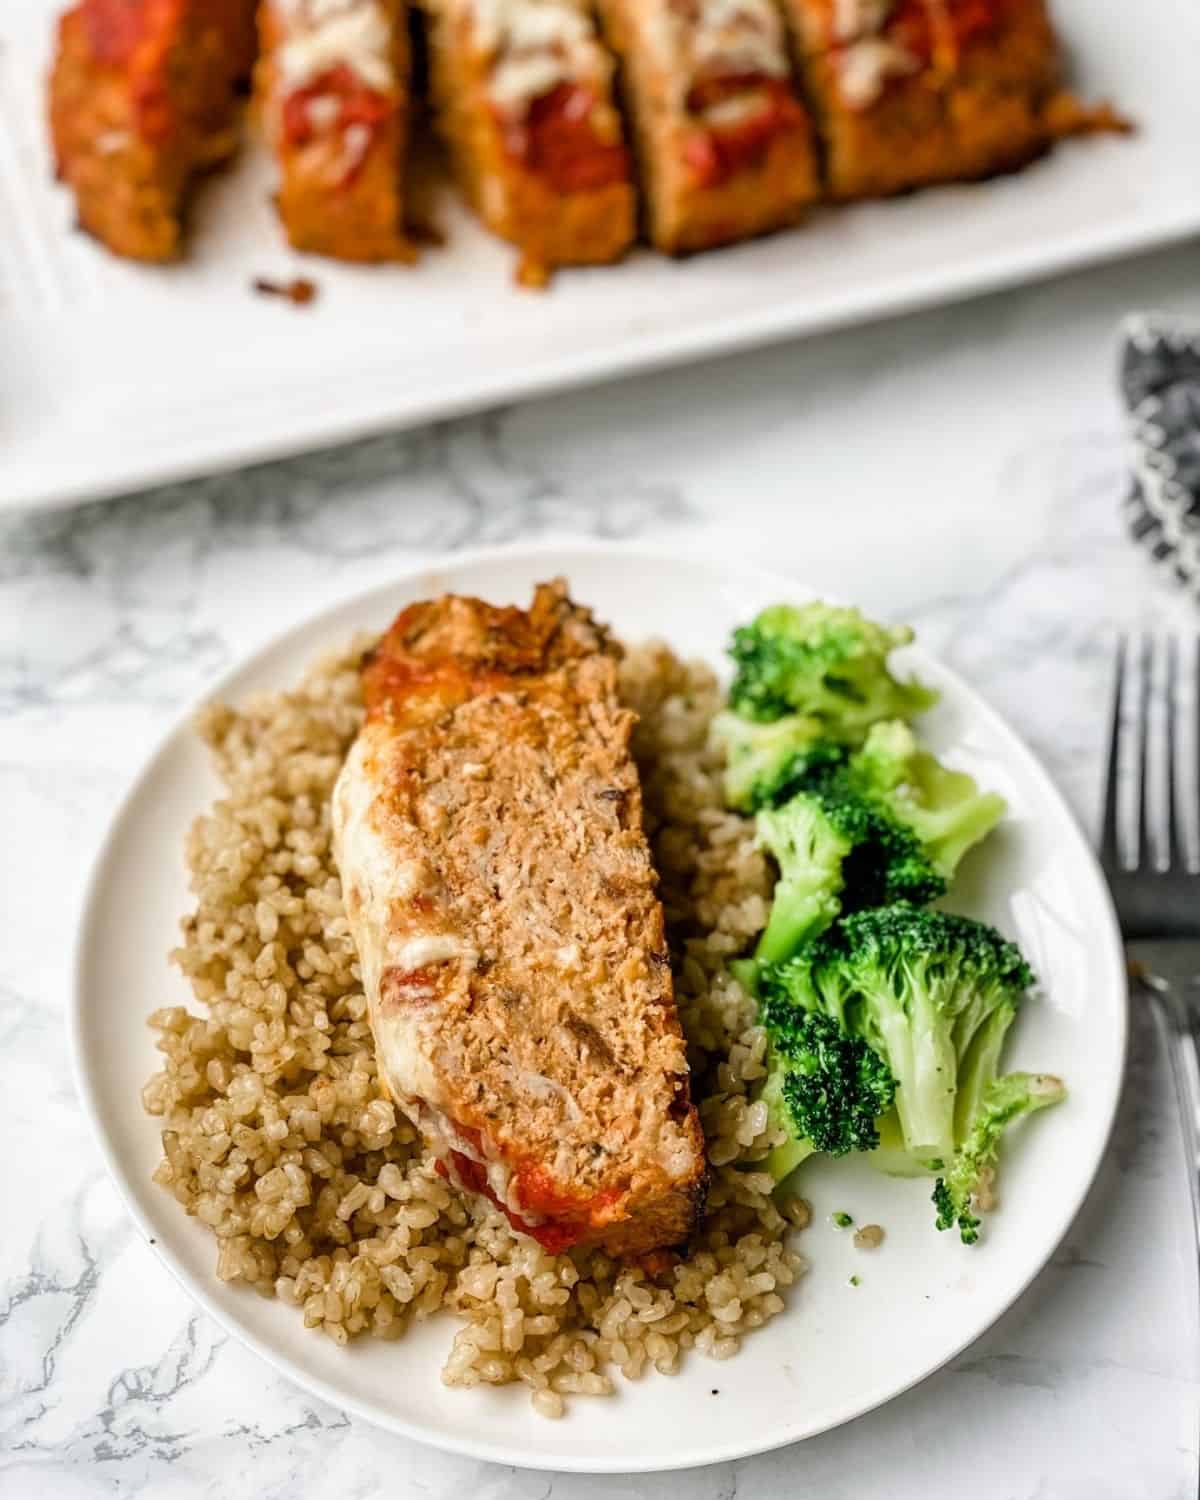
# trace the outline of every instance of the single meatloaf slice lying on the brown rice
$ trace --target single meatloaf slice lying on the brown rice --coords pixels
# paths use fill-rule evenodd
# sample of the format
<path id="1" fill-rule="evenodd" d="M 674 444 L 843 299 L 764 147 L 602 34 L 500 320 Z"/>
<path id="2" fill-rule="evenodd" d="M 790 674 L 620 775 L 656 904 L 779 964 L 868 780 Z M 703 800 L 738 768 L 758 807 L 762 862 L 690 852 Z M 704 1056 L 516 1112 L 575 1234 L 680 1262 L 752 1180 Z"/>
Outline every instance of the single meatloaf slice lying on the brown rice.
<path id="1" fill-rule="evenodd" d="M 405 609 L 334 850 L 381 1074 L 549 1250 L 686 1239 L 705 1185 L 616 650 L 561 584 Z"/>

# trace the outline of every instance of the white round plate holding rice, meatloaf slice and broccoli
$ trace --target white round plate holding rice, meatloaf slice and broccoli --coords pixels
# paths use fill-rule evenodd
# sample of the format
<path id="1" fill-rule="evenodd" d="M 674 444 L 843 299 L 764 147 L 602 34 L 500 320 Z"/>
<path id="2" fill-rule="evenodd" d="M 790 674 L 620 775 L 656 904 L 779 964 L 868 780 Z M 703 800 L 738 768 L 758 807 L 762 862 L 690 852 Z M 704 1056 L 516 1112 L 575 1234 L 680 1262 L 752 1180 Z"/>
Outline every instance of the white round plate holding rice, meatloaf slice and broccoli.
<path id="1" fill-rule="evenodd" d="M 555 574 L 627 640 L 662 636 L 714 664 L 734 626 L 808 590 L 717 561 L 622 546 L 462 555 L 348 600 L 280 636 L 213 687 L 240 699 L 282 687 L 318 652 L 404 604 L 446 590 L 524 603 Z M 922 724 L 933 747 L 1008 798 L 1010 816 L 968 861 L 954 904 L 1018 938 L 1042 980 L 1012 1042 L 1012 1062 L 1062 1074 L 1066 1104 L 1011 1143 L 1002 1204 L 972 1250 L 933 1227 L 928 1185 L 862 1162 L 813 1162 L 813 1226 L 796 1236 L 812 1270 L 788 1310 L 728 1364 L 687 1358 L 681 1374 L 620 1383 L 578 1400 L 566 1419 L 532 1413 L 520 1389 L 450 1390 L 438 1378 L 453 1323 L 434 1318 L 399 1342 L 338 1348 L 294 1308 L 216 1280 L 216 1245 L 150 1180 L 158 1125 L 141 1110 L 154 1071 L 146 1016 L 186 1004 L 166 963 L 188 908 L 183 836 L 216 782 L 189 718 L 166 738 L 122 807 L 92 878 L 78 944 L 72 1016 L 80 1090 L 141 1232 L 207 1312 L 315 1395 L 406 1437 L 502 1464 L 584 1472 L 676 1468 L 762 1452 L 888 1401 L 978 1338 L 1053 1254 L 1100 1164 L 1125 1059 L 1125 978 L 1101 873 L 1046 772 L 1002 720 L 920 651 L 909 663 L 942 690 Z M 189 716 L 190 717 L 190 716 Z M 846 1210 L 886 1227 L 867 1257 L 830 1224 Z M 861 1275 L 850 1286 L 852 1272 Z M 718 1394 L 712 1394 L 717 1390 Z"/>

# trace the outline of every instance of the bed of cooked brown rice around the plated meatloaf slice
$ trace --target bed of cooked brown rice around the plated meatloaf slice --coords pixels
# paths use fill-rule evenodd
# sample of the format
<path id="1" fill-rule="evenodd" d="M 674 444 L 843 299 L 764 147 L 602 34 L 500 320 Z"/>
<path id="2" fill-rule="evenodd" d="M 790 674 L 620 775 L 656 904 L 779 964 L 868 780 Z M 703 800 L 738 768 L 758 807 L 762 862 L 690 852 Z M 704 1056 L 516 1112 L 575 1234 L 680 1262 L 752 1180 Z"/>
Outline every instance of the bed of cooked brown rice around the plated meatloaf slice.
<path id="1" fill-rule="evenodd" d="M 189 834 L 196 904 L 172 954 L 201 1014 L 150 1017 L 165 1056 L 144 1090 L 164 1122 L 154 1180 L 212 1228 L 222 1280 L 339 1344 L 448 1310 L 460 1326 L 442 1380 L 520 1380 L 543 1416 L 606 1395 L 615 1371 L 672 1372 L 690 1348 L 726 1359 L 783 1308 L 802 1262 L 786 1245 L 801 1215 L 789 1222 L 753 1170 L 770 1144 L 750 1098 L 765 1041 L 724 964 L 764 926 L 770 876 L 752 825 L 722 806 L 712 674 L 654 645 L 622 666 L 712 1167 L 687 1254 L 638 1266 L 550 1256 L 465 1202 L 380 1090 L 328 819 L 363 645 L 294 692 L 201 716 L 226 795 Z"/>

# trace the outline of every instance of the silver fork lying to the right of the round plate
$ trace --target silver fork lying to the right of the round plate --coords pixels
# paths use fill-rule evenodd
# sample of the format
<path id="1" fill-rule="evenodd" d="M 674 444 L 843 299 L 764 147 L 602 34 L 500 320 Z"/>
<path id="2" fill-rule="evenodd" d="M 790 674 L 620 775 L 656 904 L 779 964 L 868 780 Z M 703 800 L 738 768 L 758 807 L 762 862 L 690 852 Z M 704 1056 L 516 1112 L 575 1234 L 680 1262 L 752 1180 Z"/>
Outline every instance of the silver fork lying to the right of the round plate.
<path id="1" fill-rule="evenodd" d="M 1130 978 L 1154 1000 L 1170 1058 L 1200 1244 L 1200 872 L 1188 807 L 1200 794 L 1200 717 L 1184 735 L 1180 650 L 1118 645 L 1100 860 L 1126 939 Z M 1191 674 L 1200 702 L 1200 656 Z M 1188 738 L 1191 744 L 1188 744 Z"/>

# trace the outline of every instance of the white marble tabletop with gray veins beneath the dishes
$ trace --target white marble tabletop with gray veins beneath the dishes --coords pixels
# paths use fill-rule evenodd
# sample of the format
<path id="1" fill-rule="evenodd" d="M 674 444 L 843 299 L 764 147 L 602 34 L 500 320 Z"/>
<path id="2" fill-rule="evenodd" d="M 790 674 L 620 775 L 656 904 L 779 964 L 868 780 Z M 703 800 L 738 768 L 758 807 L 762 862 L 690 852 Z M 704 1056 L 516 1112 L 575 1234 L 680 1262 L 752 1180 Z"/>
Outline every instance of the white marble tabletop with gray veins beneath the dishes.
<path id="1" fill-rule="evenodd" d="M 1200 315 L 1194 267 L 1196 248 L 1184 248 L 0 524 L 0 1496 L 1196 1494 L 1196 1254 L 1167 1080 L 1142 1022 L 1096 1190 L 987 1338 L 885 1410 L 801 1448 L 630 1479 L 494 1468 L 405 1443 L 320 1406 L 224 1338 L 126 1224 L 75 1101 L 62 1026 L 87 862 L 177 705 L 315 606 L 471 543 L 678 538 L 909 618 L 1029 736 L 1090 820 L 1112 626 L 1196 627 L 1194 604 L 1122 532 L 1113 396 L 1118 318 L 1136 306 Z"/>

